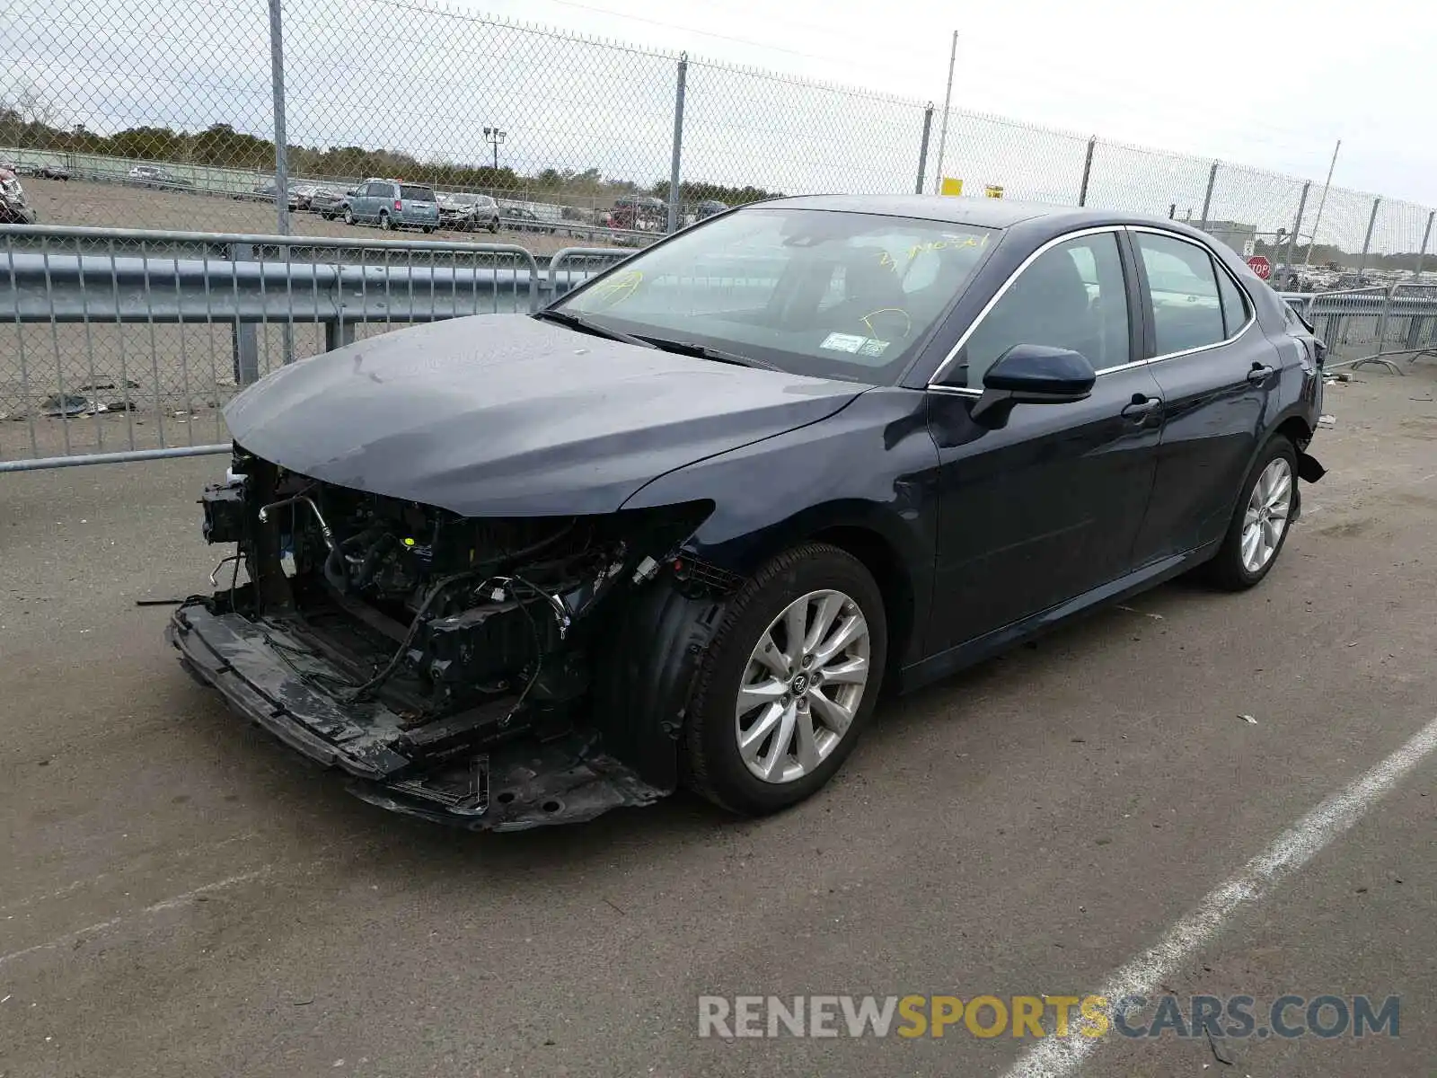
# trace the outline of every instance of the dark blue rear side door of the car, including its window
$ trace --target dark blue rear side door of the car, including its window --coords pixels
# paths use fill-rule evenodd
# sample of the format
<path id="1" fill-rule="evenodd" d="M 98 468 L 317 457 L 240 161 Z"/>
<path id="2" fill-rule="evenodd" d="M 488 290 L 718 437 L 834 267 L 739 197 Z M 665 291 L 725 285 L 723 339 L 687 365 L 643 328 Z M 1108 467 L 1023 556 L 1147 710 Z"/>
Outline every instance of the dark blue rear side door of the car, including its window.
<path id="1" fill-rule="evenodd" d="M 1196 239 L 1134 227 L 1148 333 L 1163 392 L 1163 443 L 1138 561 L 1214 542 L 1227 530 L 1257 451 L 1282 358 L 1252 299 Z"/>

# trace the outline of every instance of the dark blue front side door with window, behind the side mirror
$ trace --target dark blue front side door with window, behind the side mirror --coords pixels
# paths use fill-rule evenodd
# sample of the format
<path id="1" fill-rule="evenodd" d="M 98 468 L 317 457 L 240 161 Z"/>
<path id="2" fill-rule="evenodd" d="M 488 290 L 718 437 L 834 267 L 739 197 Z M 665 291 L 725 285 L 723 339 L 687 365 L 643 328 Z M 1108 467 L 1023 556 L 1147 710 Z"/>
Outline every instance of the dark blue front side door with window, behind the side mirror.
<path id="1" fill-rule="evenodd" d="M 938 446 L 938 565 L 927 651 L 1039 614 L 1132 568 L 1152 490 L 1161 400 L 1132 356 L 1135 283 L 1121 230 L 1049 246 L 966 335 L 930 388 Z M 1071 348 L 1098 369 L 1072 404 L 971 418 L 983 374 L 1013 345 Z"/>

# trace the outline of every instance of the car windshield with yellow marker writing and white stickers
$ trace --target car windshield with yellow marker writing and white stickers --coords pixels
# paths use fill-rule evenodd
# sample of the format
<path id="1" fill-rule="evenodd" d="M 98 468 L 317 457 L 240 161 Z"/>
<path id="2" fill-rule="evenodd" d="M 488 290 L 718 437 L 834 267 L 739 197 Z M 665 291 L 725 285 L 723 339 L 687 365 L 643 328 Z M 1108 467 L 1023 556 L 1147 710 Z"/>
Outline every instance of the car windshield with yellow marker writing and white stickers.
<path id="1" fill-rule="evenodd" d="M 635 254 L 555 309 L 793 374 L 885 384 L 996 240 L 908 217 L 743 210 Z"/>

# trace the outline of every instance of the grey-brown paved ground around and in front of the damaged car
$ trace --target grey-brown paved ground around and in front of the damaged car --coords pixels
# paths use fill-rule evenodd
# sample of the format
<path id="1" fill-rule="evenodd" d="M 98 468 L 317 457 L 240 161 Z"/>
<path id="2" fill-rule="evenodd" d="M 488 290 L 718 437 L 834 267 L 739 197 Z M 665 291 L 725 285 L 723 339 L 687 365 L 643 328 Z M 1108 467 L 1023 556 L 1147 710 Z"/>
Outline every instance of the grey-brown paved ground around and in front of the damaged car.
<path id="1" fill-rule="evenodd" d="M 218 459 L 0 477 L 0 1074 L 1003 1074 L 1023 1042 L 700 1041 L 700 993 L 1096 990 L 1437 713 L 1437 368 L 1328 391 L 1255 592 L 1178 582 L 884 709 L 839 780 L 466 835 L 177 667 Z M 1242 722 L 1250 714 L 1257 722 Z M 1426 1074 L 1437 757 L 1157 990 L 1401 996 L 1401 1036 L 1111 1038 L 1098 1075 Z M 1309 851 L 1311 852 L 1311 851 Z M 1066 1072 L 1053 1069 L 1052 1072 Z"/>

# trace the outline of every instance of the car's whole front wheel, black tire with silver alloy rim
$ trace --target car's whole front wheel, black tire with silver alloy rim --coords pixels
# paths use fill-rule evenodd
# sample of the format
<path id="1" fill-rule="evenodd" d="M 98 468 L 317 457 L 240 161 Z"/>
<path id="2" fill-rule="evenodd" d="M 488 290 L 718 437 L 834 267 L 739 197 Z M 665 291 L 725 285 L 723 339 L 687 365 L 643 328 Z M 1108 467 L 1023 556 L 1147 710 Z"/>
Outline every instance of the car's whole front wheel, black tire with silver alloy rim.
<path id="1" fill-rule="evenodd" d="M 882 595 L 852 555 L 805 543 L 733 598 L 698 668 L 685 783 L 743 815 L 803 801 L 842 766 L 888 657 Z"/>

